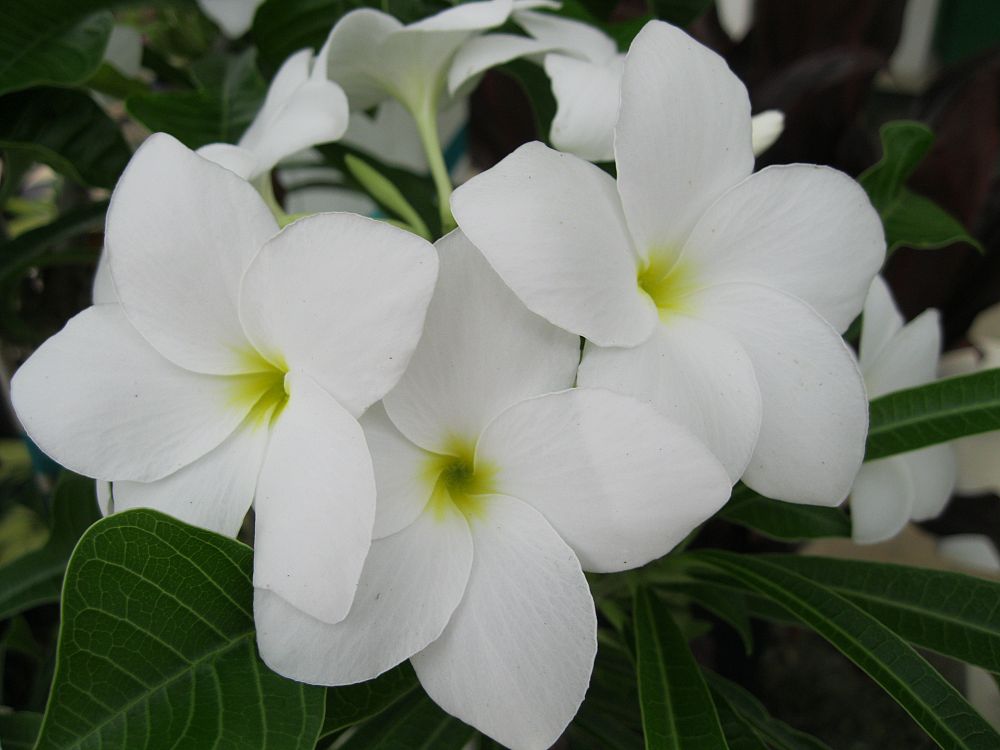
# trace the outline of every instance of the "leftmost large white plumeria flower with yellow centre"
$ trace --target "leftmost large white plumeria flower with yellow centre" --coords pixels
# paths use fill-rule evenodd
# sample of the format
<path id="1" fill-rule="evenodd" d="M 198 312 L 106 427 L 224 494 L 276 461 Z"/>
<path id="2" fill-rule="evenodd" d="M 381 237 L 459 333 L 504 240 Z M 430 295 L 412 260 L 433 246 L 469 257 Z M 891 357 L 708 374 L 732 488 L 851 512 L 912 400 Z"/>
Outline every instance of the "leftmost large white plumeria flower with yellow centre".
<path id="1" fill-rule="evenodd" d="M 170 136 L 123 173 L 111 290 L 14 376 L 32 440 L 147 507 L 233 535 L 256 511 L 254 585 L 342 619 L 371 541 L 357 417 L 402 376 L 433 290 L 430 243 L 351 214 L 278 233 L 249 183 Z"/>

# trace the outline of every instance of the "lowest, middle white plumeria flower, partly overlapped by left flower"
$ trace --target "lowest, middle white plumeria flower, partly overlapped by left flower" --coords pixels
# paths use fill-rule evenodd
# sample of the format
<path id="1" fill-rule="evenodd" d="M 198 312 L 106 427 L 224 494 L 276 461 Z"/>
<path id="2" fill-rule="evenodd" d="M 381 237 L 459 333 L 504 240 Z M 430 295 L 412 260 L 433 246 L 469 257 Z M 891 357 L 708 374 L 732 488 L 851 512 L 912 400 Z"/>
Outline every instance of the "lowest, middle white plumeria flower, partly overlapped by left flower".
<path id="1" fill-rule="evenodd" d="M 410 368 L 361 419 L 375 538 L 354 607 L 325 625 L 256 592 L 261 656 L 305 682 L 412 658 L 446 711 L 515 750 L 576 713 L 597 647 L 583 570 L 666 553 L 729 495 L 725 471 L 647 404 L 573 383 L 579 339 L 528 312 L 468 240 Z"/>

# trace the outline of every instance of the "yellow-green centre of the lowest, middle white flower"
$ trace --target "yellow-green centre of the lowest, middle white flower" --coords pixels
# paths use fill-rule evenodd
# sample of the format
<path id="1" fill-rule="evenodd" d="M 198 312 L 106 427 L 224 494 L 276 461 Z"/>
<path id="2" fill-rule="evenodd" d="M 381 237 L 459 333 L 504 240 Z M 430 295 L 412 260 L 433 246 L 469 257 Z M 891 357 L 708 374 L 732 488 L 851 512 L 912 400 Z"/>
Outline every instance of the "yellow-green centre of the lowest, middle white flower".
<path id="1" fill-rule="evenodd" d="M 496 467 L 477 461 L 475 443 L 453 440 L 446 453 L 428 457 L 425 478 L 433 486 L 429 505 L 438 518 L 452 508 L 467 518 L 480 516 L 486 507 L 486 496 L 496 492 Z"/>

